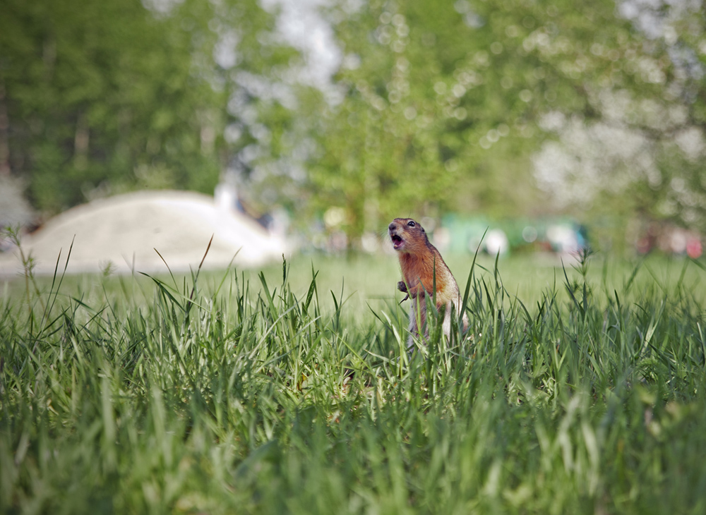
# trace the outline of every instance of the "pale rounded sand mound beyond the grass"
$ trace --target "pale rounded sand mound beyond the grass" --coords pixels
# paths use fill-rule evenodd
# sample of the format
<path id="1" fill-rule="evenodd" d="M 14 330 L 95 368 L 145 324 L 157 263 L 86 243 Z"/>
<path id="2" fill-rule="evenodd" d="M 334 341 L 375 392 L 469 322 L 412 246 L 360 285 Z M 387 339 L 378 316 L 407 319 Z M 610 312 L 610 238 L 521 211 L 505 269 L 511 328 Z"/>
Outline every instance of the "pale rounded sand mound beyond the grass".
<path id="1" fill-rule="evenodd" d="M 208 195 L 179 191 L 143 191 L 73 207 L 24 238 L 22 246 L 34 257 L 37 274 L 54 272 L 60 250 L 63 269 L 74 236 L 72 273 L 100 272 L 109 262 L 119 273 L 166 272 L 155 248 L 172 271 L 184 272 L 198 267 L 212 235 L 203 263 L 210 269 L 226 267 L 234 255 L 235 265 L 253 267 L 287 253 L 281 238 L 252 219 L 217 207 Z M 16 250 L 0 255 L 1 274 L 20 268 Z"/>

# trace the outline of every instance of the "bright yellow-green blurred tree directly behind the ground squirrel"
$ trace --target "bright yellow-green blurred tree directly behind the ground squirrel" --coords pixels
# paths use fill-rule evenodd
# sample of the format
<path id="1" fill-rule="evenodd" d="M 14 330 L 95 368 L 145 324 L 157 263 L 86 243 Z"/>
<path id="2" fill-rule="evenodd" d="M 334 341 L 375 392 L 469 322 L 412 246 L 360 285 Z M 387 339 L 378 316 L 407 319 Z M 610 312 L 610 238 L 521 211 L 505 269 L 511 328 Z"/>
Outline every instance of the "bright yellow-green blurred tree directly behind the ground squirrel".
<path id="1" fill-rule="evenodd" d="M 345 207 L 353 236 L 393 216 L 546 212 L 529 160 L 546 137 L 539 121 L 600 116 L 592 95 L 640 44 L 606 0 L 370 0 L 348 11 L 331 14 L 344 96 L 318 119 L 310 178 L 313 207 Z"/>

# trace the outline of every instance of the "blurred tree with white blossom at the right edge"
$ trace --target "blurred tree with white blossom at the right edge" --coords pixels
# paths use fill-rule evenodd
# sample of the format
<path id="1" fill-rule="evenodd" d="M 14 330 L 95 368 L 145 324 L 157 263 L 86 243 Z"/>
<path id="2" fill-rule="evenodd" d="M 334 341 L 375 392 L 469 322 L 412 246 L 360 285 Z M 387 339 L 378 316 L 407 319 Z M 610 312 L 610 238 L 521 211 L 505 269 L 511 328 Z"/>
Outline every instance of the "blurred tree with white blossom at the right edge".
<path id="1" fill-rule="evenodd" d="M 592 116 L 556 110 L 544 118 L 556 141 L 535 159 L 540 186 L 563 210 L 613 217 L 618 246 L 635 219 L 706 232 L 701 2 L 623 0 L 616 11 L 630 30 L 590 47 L 612 61 L 587 88 Z"/>

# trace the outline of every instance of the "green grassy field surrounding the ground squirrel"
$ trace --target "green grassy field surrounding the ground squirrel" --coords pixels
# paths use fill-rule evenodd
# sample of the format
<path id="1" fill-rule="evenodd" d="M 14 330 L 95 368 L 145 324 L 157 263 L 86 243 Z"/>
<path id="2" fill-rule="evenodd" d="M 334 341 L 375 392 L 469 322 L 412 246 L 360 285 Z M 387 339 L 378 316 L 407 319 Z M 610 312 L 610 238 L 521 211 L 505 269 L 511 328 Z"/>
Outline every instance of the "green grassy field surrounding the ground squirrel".
<path id="1" fill-rule="evenodd" d="M 0 290 L 0 512 L 702 514 L 700 262 L 393 256 Z M 472 274 L 470 273 L 472 272 Z"/>

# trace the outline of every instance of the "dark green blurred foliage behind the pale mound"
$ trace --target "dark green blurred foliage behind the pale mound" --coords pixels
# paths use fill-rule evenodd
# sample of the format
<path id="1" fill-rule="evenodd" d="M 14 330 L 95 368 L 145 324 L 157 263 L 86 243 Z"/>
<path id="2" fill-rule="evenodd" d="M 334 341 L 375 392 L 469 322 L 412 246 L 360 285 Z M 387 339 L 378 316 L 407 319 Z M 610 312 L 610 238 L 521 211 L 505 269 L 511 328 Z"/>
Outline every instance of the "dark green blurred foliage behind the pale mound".
<path id="1" fill-rule="evenodd" d="M 193 171 L 213 187 L 201 133 L 222 125 L 208 119 L 219 95 L 190 59 L 208 52 L 196 46 L 203 27 L 139 1 L 90 0 L 11 1 L 0 23 L 11 163 L 37 207 L 56 212 L 101 187 L 203 188 Z"/>

